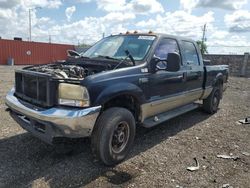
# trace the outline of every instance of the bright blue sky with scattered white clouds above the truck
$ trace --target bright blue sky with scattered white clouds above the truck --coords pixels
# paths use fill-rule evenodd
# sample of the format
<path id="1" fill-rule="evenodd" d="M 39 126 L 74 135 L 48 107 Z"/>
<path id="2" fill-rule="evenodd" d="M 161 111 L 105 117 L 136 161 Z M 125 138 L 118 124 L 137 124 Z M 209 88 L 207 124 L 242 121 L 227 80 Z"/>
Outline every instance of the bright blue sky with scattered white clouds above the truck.
<path id="1" fill-rule="evenodd" d="M 41 7 L 41 9 L 34 9 Z M 250 0 L 0 0 L 0 36 L 78 44 L 129 31 L 200 40 L 209 53 L 250 52 Z"/>

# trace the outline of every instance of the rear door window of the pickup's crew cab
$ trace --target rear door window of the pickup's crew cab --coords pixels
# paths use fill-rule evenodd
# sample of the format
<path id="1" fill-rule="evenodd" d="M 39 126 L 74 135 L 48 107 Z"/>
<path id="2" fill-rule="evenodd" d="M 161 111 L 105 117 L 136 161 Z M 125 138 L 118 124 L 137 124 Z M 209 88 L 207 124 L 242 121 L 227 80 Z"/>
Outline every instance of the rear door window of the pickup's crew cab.
<path id="1" fill-rule="evenodd" d="M 199 57 L 192 42 L 182 41 L 183 47 L 183 63 L 189 65 L 199 65 Z"/>

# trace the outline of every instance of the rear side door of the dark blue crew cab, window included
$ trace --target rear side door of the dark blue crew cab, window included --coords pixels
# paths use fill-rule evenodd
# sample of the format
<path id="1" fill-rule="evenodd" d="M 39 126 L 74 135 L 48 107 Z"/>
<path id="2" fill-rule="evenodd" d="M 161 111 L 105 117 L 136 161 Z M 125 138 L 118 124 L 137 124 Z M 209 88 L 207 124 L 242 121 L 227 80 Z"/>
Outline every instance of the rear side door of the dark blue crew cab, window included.
<path id="1" fill-rule="evenodd" d="M 200 62 L 197 46 L 192 41 L 181 41 L 182 47 L 182 62 L 186 69 L 186 80 L 187 92 L 197 95 L 197 99 L 202 94 L 202 83 L 203 83 L 203 65 Z M 194 98 L 196 98 L 194 96 Z"/>

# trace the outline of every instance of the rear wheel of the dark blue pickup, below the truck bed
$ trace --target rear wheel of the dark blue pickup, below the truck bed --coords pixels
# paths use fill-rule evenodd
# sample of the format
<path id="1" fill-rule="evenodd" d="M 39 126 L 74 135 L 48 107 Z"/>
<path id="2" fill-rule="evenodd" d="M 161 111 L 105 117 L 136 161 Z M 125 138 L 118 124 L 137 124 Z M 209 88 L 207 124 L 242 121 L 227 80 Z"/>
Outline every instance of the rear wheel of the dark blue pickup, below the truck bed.
<path id="1" fill-rule="evenodd" d="M 203 109 L 209 113 L 214 114 L 218 111 L 221 99 L 220 87 L 215 86 L 211 94 L 203 100 Z"/>

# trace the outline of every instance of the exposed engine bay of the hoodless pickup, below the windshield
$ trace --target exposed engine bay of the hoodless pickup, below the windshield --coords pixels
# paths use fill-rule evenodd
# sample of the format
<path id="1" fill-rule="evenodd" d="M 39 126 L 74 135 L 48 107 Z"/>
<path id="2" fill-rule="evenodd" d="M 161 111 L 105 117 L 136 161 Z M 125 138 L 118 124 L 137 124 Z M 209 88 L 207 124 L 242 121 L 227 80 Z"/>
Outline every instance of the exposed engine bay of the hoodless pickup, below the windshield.
<path id="1" fill-rule="evenodd" d="M 84 79 L 89 75 L 106 71 L 108 68 L 104 66 L 84 67 L 81 65 L 56 63 L 31 66 L 27 67 L 26 70 L 46 73 L 58 79 Z"/>

